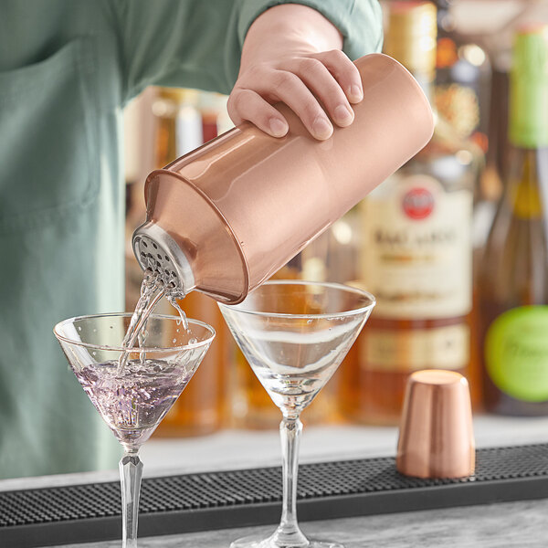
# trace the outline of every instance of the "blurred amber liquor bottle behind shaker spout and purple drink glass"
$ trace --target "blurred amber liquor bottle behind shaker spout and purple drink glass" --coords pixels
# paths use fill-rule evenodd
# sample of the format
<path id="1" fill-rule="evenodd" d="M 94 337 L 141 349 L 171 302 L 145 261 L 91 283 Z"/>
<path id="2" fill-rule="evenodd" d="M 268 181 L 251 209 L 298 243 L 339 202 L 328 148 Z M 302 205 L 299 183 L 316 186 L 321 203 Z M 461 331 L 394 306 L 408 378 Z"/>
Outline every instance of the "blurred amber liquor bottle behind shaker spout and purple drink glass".
<path id="1" fill-rule="evenodd" d="M 158 168 L 173 162 L 204 142 L 202 114 L 199 111 L 200 91 L 178 88 L 159 88 L 153 102 L 156 125 L 154 163 Z M 211 137 L 216 135 L 211 134 Z M 142 270 L 138 267 L 141 273 Z M 192 291 L 179 304 L 189 318 L 202 320 L 214 327 L 216 340 L 192 383 L 184 389 L 161 425 L 157 437 L 197 436 L 215 432 L 228 421 L 228 364 L 233 351 L 232 337 L 216 305 L 203 293 Z M 159 313 L 172 314 L 173 308 L 162 301 Z M 235 345 L 234 345 L 235 346 Z"/>

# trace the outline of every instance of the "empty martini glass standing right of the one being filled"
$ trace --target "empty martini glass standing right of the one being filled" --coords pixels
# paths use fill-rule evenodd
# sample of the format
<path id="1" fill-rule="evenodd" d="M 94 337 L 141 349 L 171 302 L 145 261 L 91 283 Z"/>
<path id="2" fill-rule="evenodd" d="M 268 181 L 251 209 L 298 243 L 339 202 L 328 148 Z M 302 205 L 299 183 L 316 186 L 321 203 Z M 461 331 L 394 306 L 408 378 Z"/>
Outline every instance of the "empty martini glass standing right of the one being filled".
<path id="1" fill-rule="evenodd" d="M 299 416 L 341 364 L 374 307 L 374 297 L 341 284 L 276 280 L 237 305 L 219 307 L 283 416 L 281 522 L 269 538 L 239 539 L 231 548 L 342 548 L 309 541 L 297 523 Z"/>

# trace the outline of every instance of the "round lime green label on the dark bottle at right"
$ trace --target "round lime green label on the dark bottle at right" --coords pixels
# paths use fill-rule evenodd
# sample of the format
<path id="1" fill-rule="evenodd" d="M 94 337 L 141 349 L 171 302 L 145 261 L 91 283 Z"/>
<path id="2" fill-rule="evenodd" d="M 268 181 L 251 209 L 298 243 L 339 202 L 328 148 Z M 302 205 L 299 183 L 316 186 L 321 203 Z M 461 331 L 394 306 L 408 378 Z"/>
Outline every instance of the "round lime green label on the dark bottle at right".
<path id="1" fill-rule="evenodd" d="M 485 366 L 502 392 L 525 402 L 548 400 L 548 306 L 503 312 L 490 324 Z"/>

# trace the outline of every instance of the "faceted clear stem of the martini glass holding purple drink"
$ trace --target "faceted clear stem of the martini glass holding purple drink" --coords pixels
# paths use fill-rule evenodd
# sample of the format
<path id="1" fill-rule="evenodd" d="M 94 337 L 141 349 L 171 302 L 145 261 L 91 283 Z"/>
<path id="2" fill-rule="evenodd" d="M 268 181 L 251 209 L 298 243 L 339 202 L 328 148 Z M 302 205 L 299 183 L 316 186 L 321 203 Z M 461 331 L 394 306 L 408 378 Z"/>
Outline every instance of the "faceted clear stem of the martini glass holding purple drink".
<path id="1" fill-rule="evenodd" d="M 142 461 L 137 451 L 126 451 L 120 461 L 122 548 L 137 548 L 137 518 Z"/>

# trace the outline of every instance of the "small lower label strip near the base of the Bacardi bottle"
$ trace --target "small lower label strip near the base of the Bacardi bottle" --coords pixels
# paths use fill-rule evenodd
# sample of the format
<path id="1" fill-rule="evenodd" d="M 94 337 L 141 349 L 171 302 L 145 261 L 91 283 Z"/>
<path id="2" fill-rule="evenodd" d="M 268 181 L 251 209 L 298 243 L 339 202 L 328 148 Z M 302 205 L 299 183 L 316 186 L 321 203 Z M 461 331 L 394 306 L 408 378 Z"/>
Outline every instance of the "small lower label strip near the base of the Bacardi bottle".
<path id="1" fill-rule="evenodd" d="M 361 363 L 367 369 L 408 373 L 420 369 L 461 369 L 469 363 L 466 323 L 423 330 L 368 328 Z"/>

